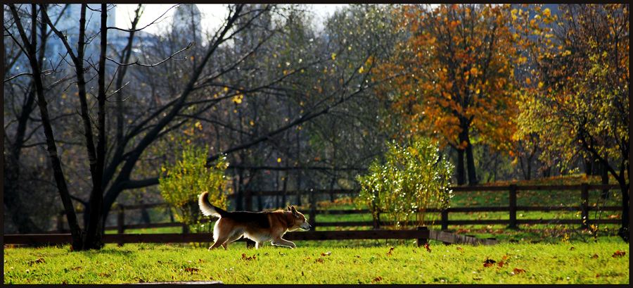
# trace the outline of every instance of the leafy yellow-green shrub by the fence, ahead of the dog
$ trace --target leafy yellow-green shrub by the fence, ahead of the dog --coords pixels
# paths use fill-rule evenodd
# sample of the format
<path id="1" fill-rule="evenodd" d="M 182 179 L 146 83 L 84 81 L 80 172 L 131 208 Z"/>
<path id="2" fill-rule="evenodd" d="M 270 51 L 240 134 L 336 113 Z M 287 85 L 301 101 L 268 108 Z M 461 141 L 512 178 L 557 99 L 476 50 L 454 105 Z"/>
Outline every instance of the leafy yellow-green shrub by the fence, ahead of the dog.
<path id="1" fill-rule="evenodd" d="M 387 144 L 384 163 L 374 161 L 369 174 L 357 177 L 361 184 L 359 200 L 369 206 L 373 217 L 383 212 L 383 220 L 394 229 L 428 225 L 428 208 L 447 208 L 452 197 L 450 176 L 453 166 L 438 161 L 439 149 L 430 139 L 417 138 L 406 146 Z"/>

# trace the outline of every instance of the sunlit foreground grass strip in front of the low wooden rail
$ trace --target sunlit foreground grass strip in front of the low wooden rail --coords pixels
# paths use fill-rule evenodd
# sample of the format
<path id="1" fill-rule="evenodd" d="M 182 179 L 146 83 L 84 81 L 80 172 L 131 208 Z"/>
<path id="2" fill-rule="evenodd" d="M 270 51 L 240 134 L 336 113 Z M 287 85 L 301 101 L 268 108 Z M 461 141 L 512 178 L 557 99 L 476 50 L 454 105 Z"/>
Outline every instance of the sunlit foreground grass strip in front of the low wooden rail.
<path id="1" fill-rule="evenodd" d="M 101 251 L 79 252 L 70 252 L 68 245 L 5 248 L 4 284 L 629 284 L 629 245 L 621 240 L 494 246 L 430 242 L 430 252 L 409 243 L 297 244 L 298 249 L 266 244 L 255 250 L 236 243 L 228 251 L 154 244 L 108 244 Z M 613 257 L 616 252 L 625 254 Z M 485 267 L 487 258 L 496 263 Z"/>

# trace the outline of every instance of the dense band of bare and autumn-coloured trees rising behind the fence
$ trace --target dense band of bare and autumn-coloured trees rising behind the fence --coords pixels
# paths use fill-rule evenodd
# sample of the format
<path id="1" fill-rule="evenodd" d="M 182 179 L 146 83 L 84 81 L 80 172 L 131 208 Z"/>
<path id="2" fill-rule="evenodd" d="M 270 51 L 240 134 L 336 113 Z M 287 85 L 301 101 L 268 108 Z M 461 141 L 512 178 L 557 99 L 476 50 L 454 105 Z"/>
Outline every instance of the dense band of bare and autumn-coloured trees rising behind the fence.
<path id="1" fill-rule="evenodd" d="M 628 213 L 628 5 L 350 5 L 322 29 L 302 5 L 224 7 L 204 31 L 174 6 L 152 35 L 151 6 L 121 29 L 113 5 L 4 5 L 5 232 L 81 208 L 98 248 L 114 204 L 162 202 L 183 144 L 226 155 L 239 195 L 355 188 L 417 136 L 456 184 L 610 175 Z"/>

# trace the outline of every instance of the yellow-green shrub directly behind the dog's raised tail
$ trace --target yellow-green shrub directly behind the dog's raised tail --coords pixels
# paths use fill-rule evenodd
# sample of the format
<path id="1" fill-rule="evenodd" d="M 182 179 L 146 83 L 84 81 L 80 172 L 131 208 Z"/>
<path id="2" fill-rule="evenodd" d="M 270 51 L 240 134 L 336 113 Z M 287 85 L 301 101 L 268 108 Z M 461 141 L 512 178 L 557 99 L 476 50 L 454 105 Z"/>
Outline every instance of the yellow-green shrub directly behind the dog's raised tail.
<path id="1" fill-rule="evenodd" d="M 191 232 L 210 232 L 211 225 L 200 223 L 202 214 L 198 207 L 198 195 L 209 192 L 211 204 L 226 209 L 226 176 L 224 170 L 229 163 L 226 157 L 220 157 L 210 168 L 206 167 L 208 146 L 184 144 L 181 157 L 176 165 L 165 163 L 158 178 L 158 189 L 165 201 L 170 204 L 175 216 L 181 223 L 188 225 Z"/>

